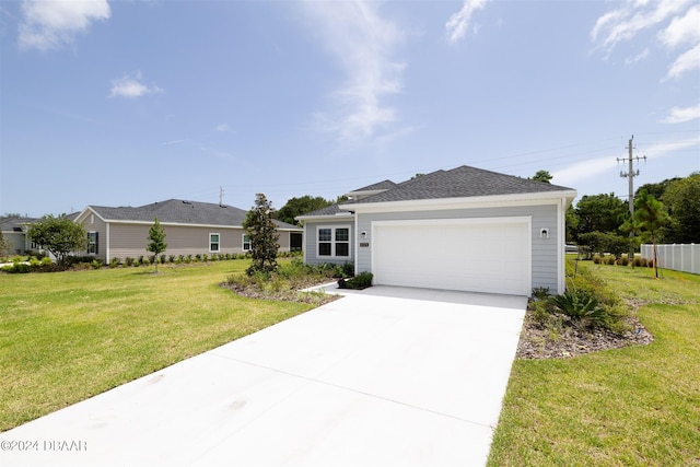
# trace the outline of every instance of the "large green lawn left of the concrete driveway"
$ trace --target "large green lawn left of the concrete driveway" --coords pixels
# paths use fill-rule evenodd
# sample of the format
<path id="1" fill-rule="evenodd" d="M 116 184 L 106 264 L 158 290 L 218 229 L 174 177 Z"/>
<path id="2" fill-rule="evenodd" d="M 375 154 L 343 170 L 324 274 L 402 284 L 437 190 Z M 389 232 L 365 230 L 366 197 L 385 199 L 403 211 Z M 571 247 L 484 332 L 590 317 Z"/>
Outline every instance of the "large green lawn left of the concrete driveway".
<path id="1" fill-rule="evenodd" d="M 0 431 L 313 307 L 219 287 L 248 265 L 0 275 Z"/>

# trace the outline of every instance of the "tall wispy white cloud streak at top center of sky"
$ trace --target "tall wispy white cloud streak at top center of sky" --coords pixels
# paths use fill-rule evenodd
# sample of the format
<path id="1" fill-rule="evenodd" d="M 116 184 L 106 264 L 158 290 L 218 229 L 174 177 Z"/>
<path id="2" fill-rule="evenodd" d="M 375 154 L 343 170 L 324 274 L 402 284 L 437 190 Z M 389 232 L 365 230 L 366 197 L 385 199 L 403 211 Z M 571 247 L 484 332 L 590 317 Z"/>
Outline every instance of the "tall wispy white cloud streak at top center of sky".
<path id="1" fill-rule="evenodd" d="M 368 1 L 305 2 L 319 42 L 337 60 L 346 82 L 334 93 L 338 110 L 318 113 L 315 128 L 341 141 L 362 141 L 397 120 L 396 109 L 383 103 L 401 91 L 405 65 L 393 58 L 404 35 L 381 17 Z"/>

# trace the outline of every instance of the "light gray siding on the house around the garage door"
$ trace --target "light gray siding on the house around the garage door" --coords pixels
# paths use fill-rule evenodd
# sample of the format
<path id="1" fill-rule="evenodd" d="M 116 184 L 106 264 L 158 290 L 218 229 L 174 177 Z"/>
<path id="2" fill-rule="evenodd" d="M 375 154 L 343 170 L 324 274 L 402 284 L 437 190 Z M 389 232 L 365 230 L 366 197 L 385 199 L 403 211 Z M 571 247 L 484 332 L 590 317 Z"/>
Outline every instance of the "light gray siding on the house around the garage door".
<path id="1" fill-rule="evenodd" d="M 501 217 L 529 217 L 532 219 L 532 282 L 533 288 L 549 288 L 556 293 L 558 288 L 558 245 L 559 245 L 559 223 L 557 219 L 556 205 L 527 206 L 527 207 L 503 207 L 485 209 L 454 209 L 454 210 L 432 210 L 432 211 L 408 211 L 408 212 L 382 212 L 382 213 L 359 213 L 357 232 L 366 232 L 368 237 L 362 242 L 369 243 L 366 247 L 358 247 L 355 270 L 358 272 L 372 270 L 372 222 L 394 221 L 394 220 L 425 220 L 425 219 L 470 219 L 470 218 L 501 218 Z M 548 238 L 540 237 L 540 230 L 547 229 Z M 315 233 L 315 229 L 307 230 Z M 306 248 L 311 248 L 314 241 L 306 243 Z M 355 245 L 359 243 L 354 242 Z M 314 246 L 315 248 L 315 246 Z M 410 255 L 410 252 L 406 252 Z M 310 255 L 307 262 L 315 255 Z"/>

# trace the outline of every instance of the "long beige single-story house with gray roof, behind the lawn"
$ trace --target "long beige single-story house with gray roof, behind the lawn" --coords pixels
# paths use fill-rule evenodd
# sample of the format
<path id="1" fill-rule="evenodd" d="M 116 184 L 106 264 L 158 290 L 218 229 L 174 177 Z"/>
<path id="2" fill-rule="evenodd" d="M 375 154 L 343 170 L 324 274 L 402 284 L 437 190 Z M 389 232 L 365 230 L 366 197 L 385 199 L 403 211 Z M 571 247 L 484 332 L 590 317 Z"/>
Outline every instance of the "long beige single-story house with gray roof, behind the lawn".
<path id="1" fill-rule="evenodd" d="M 225 205 L 168 199 L 138 208 L 89 206 L 78 215 L 88 232 L 88 255 L 110 261 L 149 256 L 149 230 L 158 218 L 166 255 L 240 254 L 250 249 L 243 229 L 247 211 Z M 280 252 L 302 249 L 302 229 L 273 220 Z"/>

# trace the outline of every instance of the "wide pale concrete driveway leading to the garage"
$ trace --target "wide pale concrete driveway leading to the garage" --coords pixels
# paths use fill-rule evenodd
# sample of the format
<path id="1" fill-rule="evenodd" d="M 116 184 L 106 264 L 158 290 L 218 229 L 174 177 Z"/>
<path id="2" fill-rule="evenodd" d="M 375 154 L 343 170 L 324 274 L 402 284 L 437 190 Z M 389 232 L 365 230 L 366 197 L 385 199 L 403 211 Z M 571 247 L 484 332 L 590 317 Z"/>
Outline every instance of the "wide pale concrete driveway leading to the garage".
<path id="1" fill-rule="evenodd" d="M 2 466 L 482 466 L 526 299 L 374 287 L 0 434 Z"/>

